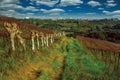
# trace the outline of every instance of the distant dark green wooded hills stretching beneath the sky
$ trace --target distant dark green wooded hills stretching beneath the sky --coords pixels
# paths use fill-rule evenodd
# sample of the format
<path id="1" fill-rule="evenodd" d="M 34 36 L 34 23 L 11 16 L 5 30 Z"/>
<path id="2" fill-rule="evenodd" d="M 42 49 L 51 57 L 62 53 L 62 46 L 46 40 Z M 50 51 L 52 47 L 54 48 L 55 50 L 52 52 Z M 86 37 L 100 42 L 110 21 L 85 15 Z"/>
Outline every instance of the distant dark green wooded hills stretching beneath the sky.
<path id="1" fill-rule="evenodd" d="M 29 24 L 51 30 L 62 30 L 71 36 L 82 35 L 120 43 L 120 20 L 81 20 L 81 19 L 22 19 Z"/>

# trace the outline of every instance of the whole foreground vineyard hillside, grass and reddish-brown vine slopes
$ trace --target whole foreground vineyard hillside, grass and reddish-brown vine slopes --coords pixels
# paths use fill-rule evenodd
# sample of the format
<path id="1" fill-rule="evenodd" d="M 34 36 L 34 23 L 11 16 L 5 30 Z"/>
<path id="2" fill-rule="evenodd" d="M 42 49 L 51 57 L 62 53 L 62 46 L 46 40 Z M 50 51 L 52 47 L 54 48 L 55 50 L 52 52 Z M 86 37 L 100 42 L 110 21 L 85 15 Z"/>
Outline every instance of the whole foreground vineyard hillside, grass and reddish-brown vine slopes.
<path id="1" fill-rule="evenodd" d="M 4 22 L 17 24 L 21 31 L 21 35 L 16 33 L 14 38 L 15 50 L 12 50 L 11 37 Z M 42 46 L 41 36 L 38 39 L 37 36 L 31 37 L 31 30 L 43 32 L 44 37 L 54 34 L 54 30 L 0 16 L 0 80 L 120 79 L 119 44 L 61 34 L 55 35 L 49 46 L 47 42 Z M 19 36 L 25 40 L 26 49 L 23 49 Z"/>

